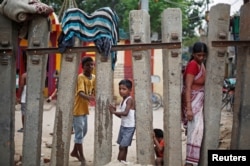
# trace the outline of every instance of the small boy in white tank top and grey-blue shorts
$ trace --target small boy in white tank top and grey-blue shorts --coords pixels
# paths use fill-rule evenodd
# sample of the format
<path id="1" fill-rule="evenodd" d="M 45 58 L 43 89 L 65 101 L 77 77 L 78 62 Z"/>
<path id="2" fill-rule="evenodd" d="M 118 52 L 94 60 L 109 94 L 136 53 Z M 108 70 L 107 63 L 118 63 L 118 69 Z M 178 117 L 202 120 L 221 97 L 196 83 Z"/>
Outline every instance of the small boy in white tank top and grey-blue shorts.
<path id="1" fill-rule="evenodd" d="M 116 107 L 109 106 L 112 114 L 121 118 L 121 126 L 117 139 L 119 146 L 119 154 L 117 159 L 126 164 L 128 146 L 132 143 L 132 138 L 135 132 L 135 102 L 131 96 L 132 82 L 124 79 L 119 82 L 119 93 L 123 98 L 120 104 L 120 111 L 116 111 Z"/>

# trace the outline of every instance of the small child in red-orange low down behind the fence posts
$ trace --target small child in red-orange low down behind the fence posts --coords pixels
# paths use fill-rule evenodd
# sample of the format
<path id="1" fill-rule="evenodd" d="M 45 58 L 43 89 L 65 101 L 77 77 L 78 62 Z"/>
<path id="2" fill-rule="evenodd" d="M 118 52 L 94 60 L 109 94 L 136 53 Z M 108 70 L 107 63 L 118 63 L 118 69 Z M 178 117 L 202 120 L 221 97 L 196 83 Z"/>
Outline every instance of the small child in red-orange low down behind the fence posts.
<path id="1" fill-rule="evenodd" d="M 153 133 L 154 145 L 155 145 L 155 165 L 163 165 L 163 154 L 164 154 L 164 139 L 163 131 L 161 129 L 154 129 Z"/>

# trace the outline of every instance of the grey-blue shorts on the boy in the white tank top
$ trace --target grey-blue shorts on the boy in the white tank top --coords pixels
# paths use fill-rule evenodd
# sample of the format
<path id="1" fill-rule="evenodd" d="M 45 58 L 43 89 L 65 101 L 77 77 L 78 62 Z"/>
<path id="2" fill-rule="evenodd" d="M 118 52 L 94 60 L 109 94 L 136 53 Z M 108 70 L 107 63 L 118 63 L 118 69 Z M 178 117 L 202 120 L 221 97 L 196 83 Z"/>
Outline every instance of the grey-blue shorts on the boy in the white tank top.
<path id="1" fill-rule="evenodd" d="M 120 127 L 117 143 L 122 147 L 128 147 L 132 143 L 135 127 Z"/>

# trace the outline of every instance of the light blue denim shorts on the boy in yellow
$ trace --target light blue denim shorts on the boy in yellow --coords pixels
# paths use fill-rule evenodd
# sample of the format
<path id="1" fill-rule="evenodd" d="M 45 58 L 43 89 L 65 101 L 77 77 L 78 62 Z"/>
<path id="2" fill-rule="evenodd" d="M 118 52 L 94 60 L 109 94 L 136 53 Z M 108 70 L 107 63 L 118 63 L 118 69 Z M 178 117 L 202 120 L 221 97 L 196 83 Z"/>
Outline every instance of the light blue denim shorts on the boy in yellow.
<path id="1" fill-rule="evenodd" d="M 83 138 L 88 131 L 88 115 L 74 116 L 73 127 L 75 131 L 75 140 L 77 144 L 82 144 Z"/>

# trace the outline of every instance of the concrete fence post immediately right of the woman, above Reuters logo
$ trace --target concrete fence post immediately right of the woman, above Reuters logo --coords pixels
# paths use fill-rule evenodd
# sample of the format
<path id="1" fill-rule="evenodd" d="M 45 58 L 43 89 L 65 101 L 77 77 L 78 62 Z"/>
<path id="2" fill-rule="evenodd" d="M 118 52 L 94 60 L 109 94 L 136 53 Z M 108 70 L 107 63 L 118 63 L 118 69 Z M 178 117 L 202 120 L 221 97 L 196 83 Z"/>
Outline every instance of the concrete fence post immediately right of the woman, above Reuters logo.
<path id="1" fill-rule="evenodd" d="M 227 48 L 212 47 L 212 41 L 228 40 L 230 5 L 218 4 L 210 10 L 208 25 L 208 51 L 206 62 L 204 135 L 200 164 L 207 165 L 209 149 L 219 145 L 222 85 Z"/>

